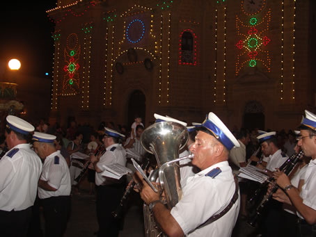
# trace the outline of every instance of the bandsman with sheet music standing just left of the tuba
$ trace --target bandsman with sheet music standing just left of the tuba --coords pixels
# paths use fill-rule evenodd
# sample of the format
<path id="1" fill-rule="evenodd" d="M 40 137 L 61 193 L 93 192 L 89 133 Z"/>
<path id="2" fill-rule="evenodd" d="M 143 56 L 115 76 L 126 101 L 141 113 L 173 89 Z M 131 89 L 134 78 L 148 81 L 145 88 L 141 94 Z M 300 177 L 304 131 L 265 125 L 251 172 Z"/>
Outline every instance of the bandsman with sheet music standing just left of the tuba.
<path id="1" fill-rule="evenodd" d="M 120 198 L 124 192 L 125 180 L 111 179 L 102 176 L 105 170 L 104 165 L 118 163 L 126 165 L 126 152 L 120 140 L 125 136 L 117 131 L 105 128 L 104 138 L 102 142 L 106 148 L 106 152 L 99 157 L 90 156 L 90 161 L 95 168 L 95 185 L 97 190 L 97 222 L 99 224 L 99 231 L 97 236 L 118 236 L 120 229 L 120 222 L 112 216 L 112 211 L 115 211 Z"/>

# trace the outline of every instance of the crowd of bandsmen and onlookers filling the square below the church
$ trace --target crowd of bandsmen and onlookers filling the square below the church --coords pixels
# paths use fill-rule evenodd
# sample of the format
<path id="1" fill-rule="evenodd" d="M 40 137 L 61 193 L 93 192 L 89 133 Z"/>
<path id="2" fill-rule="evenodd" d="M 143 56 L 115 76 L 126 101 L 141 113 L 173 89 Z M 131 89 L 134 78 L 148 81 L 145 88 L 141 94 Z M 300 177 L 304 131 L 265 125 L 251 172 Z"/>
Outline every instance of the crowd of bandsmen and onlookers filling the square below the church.
<path id="1" fill-rule="evenodd" d="M 168 186 L 160 186 L 158 179 L 150 185 L 132 163 L 132 158 L 140 165 L 149 163 L 148 174 L 159 163 L 148 153 L 157 151 L 141 144 L 145 126 L 139 115 L 131 127 L 101 122 L 93 128 L 88 124 L 79 126 L 73 120 L 68 129 L 45 120 L 33 126 L 8 115 L 6 129 L 0 136 L 3 236 L 63 236 L 70 216 L 71 195 L 80 195 L 83 177 L 88 179 L 89 194 L 96 196 L 97 236 L 118 236 L 122 220 L 113 216 L 113 211 L 132 183 L 155 217 L 158 234 L 161 231 L 167 236 L 231 236 L 240 218 L 255 222 L 254 233 L 258 236 L 316 236 L 316 115 L 306 111 L 299 128 L 287 132 L 230 131 L 212 112 L 203 123 L 192 123 L 193 126 L 168 116 L 155 114 L 155 119 L 151 127 L 168 126 L 162 123 L 175 129 L 175 124 L 180 124 L 188 131 L 184 147 L 167 146 L 174 143 L 170 139 L 175 139 L 175 131 L 171 131 L 171 137 L 164 137 L 167 130 L 163 127 L 163 132 L 155 134 L 159 149 L 180 147 L 177 156 L 186 156 L 179 165 L 173 165 L 171 172 L 175 178 L 180 177 L 175 186 L 182 187 L 175 204 L 168 197 L 172 193 Z M 301 150 L 303 155 L 299 157 Z M 293 157 L 297 160 L 289 170 Z M 134 176 L 116 179 L 106 175 L 106 167 L 113 164 L 129 168 Z M 240 177 L 241 167 L 249 165 L 266 175 L 267 181 L 260 184 Z M 164 185 L 173 182 L 169 174 L 165 177 L 168 180 Z M 258 190 L 261 197 L 271 199 L 259 213 L 258 221 L 254 221 L 254 215 L 259 215 L 255 209 L 258 202 L 251 203 L 249 199 Z M 40 229 L 40 207 L 44 230 Z"/>

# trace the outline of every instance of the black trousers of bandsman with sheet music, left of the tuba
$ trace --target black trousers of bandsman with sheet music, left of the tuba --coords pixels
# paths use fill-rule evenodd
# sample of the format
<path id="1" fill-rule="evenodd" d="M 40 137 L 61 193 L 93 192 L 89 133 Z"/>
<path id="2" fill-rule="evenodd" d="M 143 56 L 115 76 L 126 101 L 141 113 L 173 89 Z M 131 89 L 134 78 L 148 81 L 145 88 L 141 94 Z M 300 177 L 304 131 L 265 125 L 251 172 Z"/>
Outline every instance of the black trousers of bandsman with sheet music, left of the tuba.
<path id="1" fill-rule="evenodd" d="M 124 185 L 113 184 L 107 186 L 96 186 L 97 190 L 97 222 L 99 224 L 98 237 L 117 237 L 120 231 L 120 220 L 112 216 L 120 199 L 123 196 Z"/>

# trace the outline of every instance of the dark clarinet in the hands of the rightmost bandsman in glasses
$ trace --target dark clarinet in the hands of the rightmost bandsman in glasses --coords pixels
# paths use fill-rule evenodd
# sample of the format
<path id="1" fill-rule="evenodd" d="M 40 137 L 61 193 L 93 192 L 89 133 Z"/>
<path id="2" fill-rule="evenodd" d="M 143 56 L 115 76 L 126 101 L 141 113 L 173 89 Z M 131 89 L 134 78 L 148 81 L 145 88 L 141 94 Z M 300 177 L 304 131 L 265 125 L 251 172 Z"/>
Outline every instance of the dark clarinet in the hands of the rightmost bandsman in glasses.
<path id="1" fill-rule="evenodd" d="M 293 156 L 288 158 L 287 161 L 285 161 L 285 163 L 283 163 L 283 165 L 281 165 L 279 169 L 283 171 L 286 175 L 290 174 L 290 172 L 292 172 L 294 166 L 297 164 L 297 162 L 301 159 L 302 156 L 303 156 L 303 151 L 299 152 L 298 154 L 294 154 Z M 271 189 L 270 193 L 266 193 L 263 196 L 260 204 L 255 209 L 255 213 L 251 216 L 251 218 L 249 218 L 248 224 L 250 224 L 251 227 L 255 227 L 258 221 L 258 218 L 260 218 L 260 215 L 262 214 L 264 206 L 267 204 L 267 202 L 269 202 L 272 195 L 276 193 L 276 190 L 278 190 L 278 185 L 276 184 L 276 181 L 274 180 L 273 177 L 271 177 L 269 181 L 267 182 L 267 184 L 269 183 L 273 184 L 273 188 Z"/>

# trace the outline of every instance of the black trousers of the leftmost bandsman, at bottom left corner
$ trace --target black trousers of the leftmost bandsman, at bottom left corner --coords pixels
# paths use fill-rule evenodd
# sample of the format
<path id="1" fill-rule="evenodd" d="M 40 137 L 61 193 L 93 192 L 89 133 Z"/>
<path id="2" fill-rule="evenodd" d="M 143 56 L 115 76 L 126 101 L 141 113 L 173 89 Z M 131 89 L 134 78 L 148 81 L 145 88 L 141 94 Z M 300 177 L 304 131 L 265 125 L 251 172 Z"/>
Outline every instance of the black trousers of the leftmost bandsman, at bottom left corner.
<path id="1" fill-rule="evenodd" d="M 0 211 L 1 236 L 24 237 L 29 228 L 32 207 L 22 211 Z"/>

